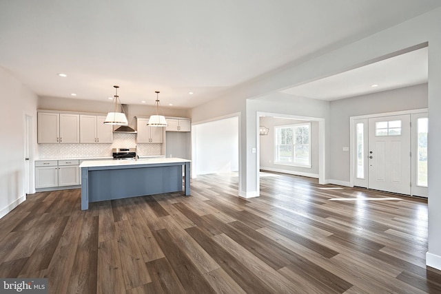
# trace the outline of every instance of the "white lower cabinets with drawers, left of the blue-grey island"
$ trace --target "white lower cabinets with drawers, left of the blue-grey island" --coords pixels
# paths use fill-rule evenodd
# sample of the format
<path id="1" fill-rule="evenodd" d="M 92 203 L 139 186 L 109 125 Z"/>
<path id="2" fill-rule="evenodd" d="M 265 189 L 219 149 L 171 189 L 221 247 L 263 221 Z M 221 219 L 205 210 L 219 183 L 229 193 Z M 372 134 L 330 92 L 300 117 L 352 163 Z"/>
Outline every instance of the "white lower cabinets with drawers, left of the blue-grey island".
<path id="1" fill-rule="evenodd" d="M 79 160 L 37 160 L 35 188 L 80 185 Z"/>

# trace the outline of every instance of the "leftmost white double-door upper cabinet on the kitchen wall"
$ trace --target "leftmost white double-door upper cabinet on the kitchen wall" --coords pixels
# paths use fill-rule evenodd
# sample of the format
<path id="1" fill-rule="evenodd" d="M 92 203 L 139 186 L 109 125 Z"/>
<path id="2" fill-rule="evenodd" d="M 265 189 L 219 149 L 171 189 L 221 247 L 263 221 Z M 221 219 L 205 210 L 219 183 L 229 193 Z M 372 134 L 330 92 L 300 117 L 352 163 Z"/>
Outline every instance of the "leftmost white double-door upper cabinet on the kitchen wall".
<path id="1" fill-rule="evenodd" d="M 79 143 L 78 114 L 38 113 L 38 143 Z"/>

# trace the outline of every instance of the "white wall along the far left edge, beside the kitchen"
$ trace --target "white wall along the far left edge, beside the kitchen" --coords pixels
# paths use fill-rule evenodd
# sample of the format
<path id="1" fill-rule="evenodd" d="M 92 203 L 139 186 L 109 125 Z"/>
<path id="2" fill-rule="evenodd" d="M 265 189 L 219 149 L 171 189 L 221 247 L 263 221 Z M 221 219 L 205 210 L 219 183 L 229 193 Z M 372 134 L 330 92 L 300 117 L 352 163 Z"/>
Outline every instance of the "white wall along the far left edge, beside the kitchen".
<path id="1" fill-rule="evenodd" d="M 25 200 L 25 115 L 32 116 L 37 129 L 37 96 L 22 85 L 12 74 L 0 67 L 0 218 Z M 33 136 L 37 145 L 37 136 Z M 34 150 L 35 151 L 35 150 Z M 30 178 L 33 183 L 34 165 L 30 160 Z M 31 185 L 32 186 L 32 185 Z"/>

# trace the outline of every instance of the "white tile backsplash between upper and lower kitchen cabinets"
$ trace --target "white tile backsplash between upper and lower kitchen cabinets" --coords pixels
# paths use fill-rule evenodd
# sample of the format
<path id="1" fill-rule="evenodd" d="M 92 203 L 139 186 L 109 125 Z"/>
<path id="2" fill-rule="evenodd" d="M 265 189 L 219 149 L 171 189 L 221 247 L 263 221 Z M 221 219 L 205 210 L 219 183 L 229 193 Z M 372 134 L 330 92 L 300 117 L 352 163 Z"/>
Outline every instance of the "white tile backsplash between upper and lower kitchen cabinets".
<path id="1" fill-rule="evenodd" d="M 136 148 L 136 154 L 161 155 L 161 144 L 138 144 L 136 134 L 114 133 L 112 144 L 39 144 L 40 159 L 112 156 L 112 148 Z"/>

